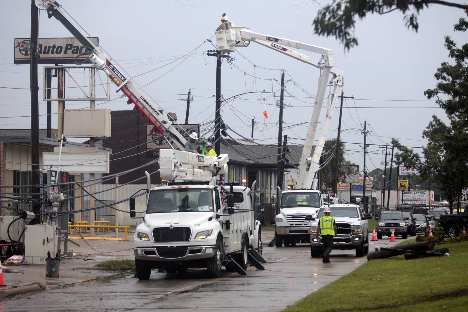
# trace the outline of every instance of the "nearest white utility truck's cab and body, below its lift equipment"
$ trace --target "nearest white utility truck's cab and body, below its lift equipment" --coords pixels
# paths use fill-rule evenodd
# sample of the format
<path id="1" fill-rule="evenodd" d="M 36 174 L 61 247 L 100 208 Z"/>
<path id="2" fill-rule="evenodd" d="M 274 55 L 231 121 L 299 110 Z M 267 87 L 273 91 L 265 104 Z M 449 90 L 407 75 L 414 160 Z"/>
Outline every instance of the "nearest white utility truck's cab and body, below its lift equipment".
<path id="1" fill-rule="evenodd" d="M 233 186 L 232 193 L 233 208 L 221 210 L 219 186 L 178 184 L 149 190 L 145 217 L 134 235 L 138 278 L 149 279 L 153 268 L 168 273 L 207 268 L 212 278 L 220 277 L 221 266 L 245 271 L 249 261 L 255 261 L 251 249 L 262 253 L 262 230 L 254 218 L 250 189 Z"/>

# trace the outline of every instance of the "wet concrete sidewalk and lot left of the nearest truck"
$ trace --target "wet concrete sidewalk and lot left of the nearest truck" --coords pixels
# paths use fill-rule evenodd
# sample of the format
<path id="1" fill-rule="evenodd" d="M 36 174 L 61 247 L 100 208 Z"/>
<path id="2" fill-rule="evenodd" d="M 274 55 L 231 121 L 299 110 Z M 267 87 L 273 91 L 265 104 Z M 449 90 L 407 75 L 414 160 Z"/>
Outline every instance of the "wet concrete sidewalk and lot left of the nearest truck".
<path id="1" fill-rule="evenodd" d="M 3 270 L 4 283 L 7 286 L 16 287 L 31 283 L 44 283 L 47 288 L 52 288 L 119 275 L 122 271 L 102 270 L 96 268 L 95 265 L 105 260 L 134 260 L 134 230 L 135 227 L 128 232 L 128 241 L 73 239 L 80 247 L 68 242 L 68 250 L 73 250 L 75 256 L 73 259 L 61 260 L 58 278 L 45 277 L 45 264 L 7 266 L 7 269 Z M 79 236 L 79 234 L 74 233 L 69 235 Z M 81 233 L 81 235 L 86 237 L 89 233 Z M 123 236 L 123 231 L 119 231 L 119 237 Z M 115 233 L 95 232 L 95 237 L 115 237 Z M 62 242 L 62 250 L 63 248 Z M 0 290 L 2 289 L 4 288 L 0 288 Z"/>

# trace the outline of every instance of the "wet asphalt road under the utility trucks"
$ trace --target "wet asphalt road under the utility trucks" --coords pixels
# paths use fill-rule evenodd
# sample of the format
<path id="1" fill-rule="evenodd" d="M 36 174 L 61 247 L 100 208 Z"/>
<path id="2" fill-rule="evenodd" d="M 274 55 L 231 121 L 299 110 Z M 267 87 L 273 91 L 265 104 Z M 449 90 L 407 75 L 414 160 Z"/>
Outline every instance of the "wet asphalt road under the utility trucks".
<path id="1" fill-rule="evenodd" d="M 370 241 L 370 250 L 395 244 L 389 240 Z M 206 279 L 205 269 L 153 270 L 149 281 L 125 276 L 9 298 L 4 311 L 281 311 L 367 261 L 354 251 L 336 250 L 324 264 L 311 258 L 308 244 L 264 247 L 263 256 L 266 270 L 249 267 L 248 276 L 223 270 L 221 278 Z"/>

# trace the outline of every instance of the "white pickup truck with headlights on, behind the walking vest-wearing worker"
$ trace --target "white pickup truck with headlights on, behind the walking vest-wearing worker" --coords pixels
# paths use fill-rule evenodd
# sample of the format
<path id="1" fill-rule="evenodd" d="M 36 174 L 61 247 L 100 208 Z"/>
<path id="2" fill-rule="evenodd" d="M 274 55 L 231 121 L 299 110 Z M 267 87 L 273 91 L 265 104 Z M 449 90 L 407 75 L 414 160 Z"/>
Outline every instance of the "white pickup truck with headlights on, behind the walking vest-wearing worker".
<path id="1" fill-rule="evenodd" d="M 319 220 L 324 216 L 325 207 L 330 208 L 330 216 L 335 218 L 335 224 L 338 230 L 333 237 L 333 249 L 356 250 L 357 257 L 363 257 L 369 251 L 368 224 L 367 219 L 371 219 L 370 214 L 363 214 L 359 205 L 356 204 L 334 204 L 323 205 L 318 211 L 316 218 L 306 217 L 313 220 L 310 227 L 310 255 L 319 257 L 323 254 L 322 236 L 319 233 L 318 239 L 317 227 Z"/>

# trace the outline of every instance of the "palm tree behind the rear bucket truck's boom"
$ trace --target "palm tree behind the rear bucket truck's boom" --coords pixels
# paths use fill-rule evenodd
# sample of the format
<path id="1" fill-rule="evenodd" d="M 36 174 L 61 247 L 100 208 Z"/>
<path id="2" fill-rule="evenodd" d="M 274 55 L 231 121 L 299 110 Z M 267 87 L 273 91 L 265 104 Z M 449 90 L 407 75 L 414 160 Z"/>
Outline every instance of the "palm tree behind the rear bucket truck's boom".
<path id="1" fill-rule="evenodd" d="M 333 174 L 335 172 L 335 153 L 336 148 L 338 148 L 338 181 L 344 181 L 346 177 L 351 174 L 351 162 L 349 160 L 344 159 L 344 143 L 340 140 L 338 144 L 336 144 L 336 138 L 329 139 L 325 141 L 325 145 L 323 146 L 322 154 L 323 159 L 322 162 L 327 162 L 330 157 L 331 159 L 322 169 L 322 184 L 325 184 L 328 188 L 333 187 Z M 328 152 L 328 153 L 327 153 Z"/>

